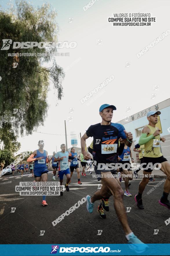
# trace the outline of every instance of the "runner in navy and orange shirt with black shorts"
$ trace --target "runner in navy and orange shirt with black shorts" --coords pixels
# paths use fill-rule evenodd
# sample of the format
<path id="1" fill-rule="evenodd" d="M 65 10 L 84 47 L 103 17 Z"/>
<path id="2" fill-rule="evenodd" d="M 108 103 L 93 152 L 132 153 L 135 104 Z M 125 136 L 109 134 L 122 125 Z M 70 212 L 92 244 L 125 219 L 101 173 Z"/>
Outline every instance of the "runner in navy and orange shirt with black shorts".
<path id="1" fill-rule="evenodd" d="M 74 169 L 76 170 L 77 172 L 77 178 L 78 178 L 78 184 L 82 184 L 81 181 L 80 181 L 80 170 L 79 170 L 79 166 L 78 166 L 78 162 L 77 160 L 77 153 L 75 152 L 75 147 L 72 147 L 71 148 L 71 152 L 70 154 L 68 155 L 68 159 L 71 160 L 71 163 L 70 163 L 70 172 L 71 172 L 71 175 L 70 175 L 70 181 L 69 183 L 71 182 L 71 177 L 73 175 L 73 172 L 74 172 Z M 79 160 L 80 161 L 80 160 Z"/>

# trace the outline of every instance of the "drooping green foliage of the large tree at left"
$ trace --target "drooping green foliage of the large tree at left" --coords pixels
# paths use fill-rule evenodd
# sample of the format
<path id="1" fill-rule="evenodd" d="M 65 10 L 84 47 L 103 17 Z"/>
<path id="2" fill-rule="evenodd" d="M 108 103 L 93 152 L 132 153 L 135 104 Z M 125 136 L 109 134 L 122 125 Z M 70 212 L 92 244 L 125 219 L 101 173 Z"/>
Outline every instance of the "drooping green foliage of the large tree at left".
<path id="1" fill-rule="evenodd" d="M 12 42 L 57 42 L 58 25 L 56 13 L 50 4 L 35 8 L 27 1 L 17 1 L 16 9 L 10 13 L 0 11 L 0 47 L 2 39 Z M 63 69 L 56 64 L 50 54 L 56 53 L 56 46 L 39 49 L 12 49 L 0 51 L 0 140 L 9 149 L 19 133 L 32 134 L 32 131 L 43 125 L 47 115 L 47 92 L 52 83 L 58 99 L 63 95 L 61 82 Z M 36 56 L 8 56 L 12 53 L 36 53 Z M 39 57 L 38 53 L 49 56 Z M 49 63 L 50 62 L 50 63 Z M 18 63 L 13 68 L 13 63 Z M 17 109 L 17 113 L 13 109 Z M 13 129 L 14 133 L 11 132 Z M 5 134 L 7 136 L 5 138 Z M 11 141 L 10 141 L 11 140 Z"/>

